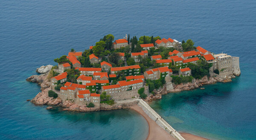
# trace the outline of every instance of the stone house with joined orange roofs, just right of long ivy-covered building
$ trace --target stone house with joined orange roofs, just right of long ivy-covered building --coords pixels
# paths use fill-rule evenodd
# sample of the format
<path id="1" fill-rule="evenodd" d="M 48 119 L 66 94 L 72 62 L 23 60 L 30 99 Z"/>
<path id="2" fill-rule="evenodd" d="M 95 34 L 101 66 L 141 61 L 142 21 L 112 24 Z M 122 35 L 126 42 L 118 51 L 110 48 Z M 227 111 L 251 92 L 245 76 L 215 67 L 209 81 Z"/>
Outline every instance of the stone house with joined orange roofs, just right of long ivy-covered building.
<path id="1" fill-rule="evenodd" d="M 150 69 L 150 70 L 144 72 L 144 77 L 146 80 L 147 79 L 157 80 L 157 79 L 160 79 L 161 77 L 166 77 L 166 76 L 169 76 L 169 68 L 167 66 Z"/>

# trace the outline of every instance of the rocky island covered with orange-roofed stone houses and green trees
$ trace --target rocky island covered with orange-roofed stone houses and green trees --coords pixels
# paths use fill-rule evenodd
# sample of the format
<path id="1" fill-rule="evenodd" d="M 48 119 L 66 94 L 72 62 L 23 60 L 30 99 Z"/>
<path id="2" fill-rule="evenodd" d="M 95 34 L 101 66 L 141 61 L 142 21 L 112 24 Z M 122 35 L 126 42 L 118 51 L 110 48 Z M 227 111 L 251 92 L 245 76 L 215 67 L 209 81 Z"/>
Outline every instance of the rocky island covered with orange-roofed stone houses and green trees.
<path id="1" fill-rule="evenodd" d="M 37 69 L 27 80 L 41 85 L 31 100 L 35 105 L 57 105 L 63 110 L 125 109 L 161 94 L 229 82 L 241 74 L 239 57 L 215 54 L 192 40 L 105 35 L 84 51 L 71 49 L 54 59 L 56 66 Z"/>

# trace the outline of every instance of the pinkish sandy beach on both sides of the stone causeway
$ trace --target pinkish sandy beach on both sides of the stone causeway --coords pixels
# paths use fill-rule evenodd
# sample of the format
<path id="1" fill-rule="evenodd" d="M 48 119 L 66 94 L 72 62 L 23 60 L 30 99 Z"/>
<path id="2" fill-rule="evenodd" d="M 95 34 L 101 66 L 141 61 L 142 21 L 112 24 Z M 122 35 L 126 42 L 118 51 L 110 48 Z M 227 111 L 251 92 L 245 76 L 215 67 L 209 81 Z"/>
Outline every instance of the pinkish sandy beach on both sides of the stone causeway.
<path id="1" fill-rule="evenodd" d="M 146 140 L 176 140 L 174 137 L 172 137 L 171 134 L 169 134 L 167 131 L 162 129 L 160 126 L 157 125 L 154 120 L 152 120 L 148 115 L 140 108 L 140 106 L 135 105 L 132 106 L 131 109 L 134 109 L 138 113 L 140 113 L 148 122 L 148 137 Z M 203 137 L 195 136 L 193 134 L 188 133 L 180 133 L 182 137 L 184 137 L 186 140 L 208 140 Z"/>

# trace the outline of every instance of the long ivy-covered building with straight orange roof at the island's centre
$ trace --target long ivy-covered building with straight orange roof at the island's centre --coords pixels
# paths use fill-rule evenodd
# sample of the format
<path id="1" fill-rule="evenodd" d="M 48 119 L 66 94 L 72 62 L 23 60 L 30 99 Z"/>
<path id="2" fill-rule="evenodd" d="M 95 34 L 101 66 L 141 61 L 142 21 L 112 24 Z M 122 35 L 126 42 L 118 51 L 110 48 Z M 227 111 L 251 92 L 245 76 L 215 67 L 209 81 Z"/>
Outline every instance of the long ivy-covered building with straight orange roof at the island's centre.
<path id="1" fill-rule="evenodd" d="M 111 74 L 118 74 L 119 72 L 124 72 L 125 76 L 140 75 L 140 66 L 132 65 L 132 66 L 111 68 Z"/>

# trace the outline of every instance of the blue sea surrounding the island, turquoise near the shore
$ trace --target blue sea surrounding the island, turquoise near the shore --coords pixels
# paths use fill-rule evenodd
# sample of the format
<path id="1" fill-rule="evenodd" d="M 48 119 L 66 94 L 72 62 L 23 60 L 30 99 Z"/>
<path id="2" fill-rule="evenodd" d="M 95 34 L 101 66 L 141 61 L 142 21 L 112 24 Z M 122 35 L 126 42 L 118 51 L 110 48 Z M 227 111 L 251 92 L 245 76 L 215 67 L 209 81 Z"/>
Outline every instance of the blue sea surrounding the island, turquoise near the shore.
<path id="1" fill-rule="evenodd" d="M 256 140 L 255 0 L 0 0 L 0 139 L 144 140 L 145 119 L 129 109 L 90 113 L 46 110 L 26 82 L 71 48 L 105 34 L 192 39 L 240 57 L 241 76 L 151 103 L 178 131 L 218 140 Z"/>

